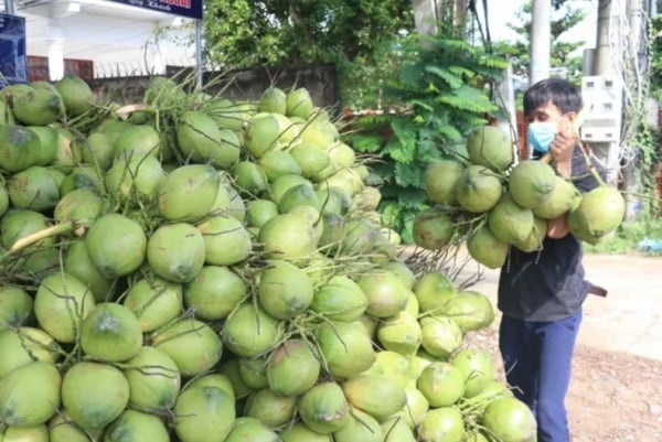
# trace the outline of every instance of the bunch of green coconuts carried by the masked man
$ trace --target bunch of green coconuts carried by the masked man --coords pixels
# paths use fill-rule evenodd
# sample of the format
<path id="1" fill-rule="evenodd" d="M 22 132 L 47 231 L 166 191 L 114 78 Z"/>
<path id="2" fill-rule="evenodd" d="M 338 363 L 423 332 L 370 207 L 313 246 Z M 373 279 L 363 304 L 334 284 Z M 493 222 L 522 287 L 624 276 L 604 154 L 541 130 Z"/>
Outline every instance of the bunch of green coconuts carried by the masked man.
<path id="1" fill-rule="evenodd" d="M 414 222 L 416 244 L 439 249 L 466 241 L 476 261 L 500 268 L 510 247 L 541 250 L 548 219 L 566 216 L 570 233 L 589 244 L 609 238 L 624 215 L 620 192 L 596 173 L 600 185 L 581 194 L 544 160 L 515 163 L 513 142 L 503 130 L 476 129 L 466 157 L 426 170 L 425 190 L 435 205 Z"/>

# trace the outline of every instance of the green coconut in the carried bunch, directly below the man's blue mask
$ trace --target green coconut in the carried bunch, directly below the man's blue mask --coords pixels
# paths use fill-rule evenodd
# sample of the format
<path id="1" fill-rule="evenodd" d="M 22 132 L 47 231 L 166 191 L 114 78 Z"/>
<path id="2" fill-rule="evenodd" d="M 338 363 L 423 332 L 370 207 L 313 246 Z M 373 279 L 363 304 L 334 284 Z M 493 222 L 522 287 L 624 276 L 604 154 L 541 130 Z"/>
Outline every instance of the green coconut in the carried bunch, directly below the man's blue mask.
<path id="1" fill-rule="evenodd" d="M 513 201 L 524 208 L 535 208 L 546 204 L 555 186 L 556 173 L 543 161 L 521 161 L 509 176 L 509 192 Z"/>

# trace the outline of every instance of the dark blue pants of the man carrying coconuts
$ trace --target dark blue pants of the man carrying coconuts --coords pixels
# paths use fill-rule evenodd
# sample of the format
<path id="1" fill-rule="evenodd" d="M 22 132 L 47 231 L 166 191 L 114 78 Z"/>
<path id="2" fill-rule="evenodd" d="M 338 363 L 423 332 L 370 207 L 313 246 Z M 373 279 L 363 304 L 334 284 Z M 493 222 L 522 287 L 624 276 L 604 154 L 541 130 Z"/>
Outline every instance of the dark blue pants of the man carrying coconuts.
<path id="1" fill-rule="evenodd" d="M 537 442 L 569 442 L 565 397 L 581 310 L 554 322 L 502 316 L 499 348 L 508 384 L 538 424 Z"/>

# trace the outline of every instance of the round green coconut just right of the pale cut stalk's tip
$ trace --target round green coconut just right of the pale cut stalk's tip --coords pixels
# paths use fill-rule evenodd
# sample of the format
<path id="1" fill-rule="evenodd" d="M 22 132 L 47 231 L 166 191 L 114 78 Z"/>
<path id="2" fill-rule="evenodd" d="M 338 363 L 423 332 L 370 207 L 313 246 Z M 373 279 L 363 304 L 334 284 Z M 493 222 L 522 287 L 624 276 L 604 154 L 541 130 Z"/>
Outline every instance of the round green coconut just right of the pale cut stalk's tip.
<path id="1" fill-rule="evenodd" d="M 147 254 L 147 236 L 138 222 L 111 213 L 97 218 L 85 235 L 89 258 L 106 278 L 137 270 Z"/>

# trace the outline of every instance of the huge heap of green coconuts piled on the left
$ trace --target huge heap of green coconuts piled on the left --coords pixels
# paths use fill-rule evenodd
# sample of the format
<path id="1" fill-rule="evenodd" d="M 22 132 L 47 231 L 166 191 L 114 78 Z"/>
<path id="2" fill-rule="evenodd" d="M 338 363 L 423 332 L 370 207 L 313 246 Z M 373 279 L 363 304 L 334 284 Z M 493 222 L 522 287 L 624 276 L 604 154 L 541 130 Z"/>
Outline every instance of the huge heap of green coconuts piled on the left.
<path id="1" fill-rule="evenodd" d="M 60 91 L 39 121 L 14 94 L 0 100 L 3 442 L 535 433 L 463 345 L 489 300 L 396 258 L 365 164 L 306 89 L 233 103 L 156 77 L 125 106 L 73 110 Z"/>

